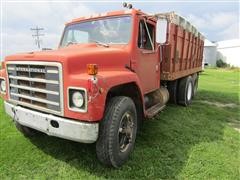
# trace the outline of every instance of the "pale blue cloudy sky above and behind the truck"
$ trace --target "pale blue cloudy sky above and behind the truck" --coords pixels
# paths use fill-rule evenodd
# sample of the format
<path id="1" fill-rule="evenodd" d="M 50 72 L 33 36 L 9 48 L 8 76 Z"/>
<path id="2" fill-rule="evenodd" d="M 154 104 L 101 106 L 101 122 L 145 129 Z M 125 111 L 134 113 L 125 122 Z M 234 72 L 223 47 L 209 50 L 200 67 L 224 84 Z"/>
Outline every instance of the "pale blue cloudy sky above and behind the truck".
<path id="1" fill-rule="evenodd" d="M 42 47 L 57 48 L 65 23 L 78 17 L 123 9 L 124 1 L 14 1 L 1 3 L 0 61 L 5 56 L 37 50 L 30 28 L 44 28 Z M 150 14 L 175 11 L 190 21 L 210 41 L 240 38 L 239 0 L 127 1 Z"/>

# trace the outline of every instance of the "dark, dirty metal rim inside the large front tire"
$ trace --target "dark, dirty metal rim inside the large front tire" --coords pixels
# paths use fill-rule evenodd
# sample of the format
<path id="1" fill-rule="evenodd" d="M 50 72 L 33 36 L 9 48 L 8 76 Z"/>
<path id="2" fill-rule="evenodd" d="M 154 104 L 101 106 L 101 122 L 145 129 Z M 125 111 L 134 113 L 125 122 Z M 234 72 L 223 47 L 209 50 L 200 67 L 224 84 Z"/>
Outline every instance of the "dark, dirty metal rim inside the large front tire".
<path id="1" fill-rule="evenodd" d="M 133 116 L 130 112 L 126 112 L 122 116 L 118 130 L 120 152 L 125 152 L 132 143 L 133 127 Z"/>

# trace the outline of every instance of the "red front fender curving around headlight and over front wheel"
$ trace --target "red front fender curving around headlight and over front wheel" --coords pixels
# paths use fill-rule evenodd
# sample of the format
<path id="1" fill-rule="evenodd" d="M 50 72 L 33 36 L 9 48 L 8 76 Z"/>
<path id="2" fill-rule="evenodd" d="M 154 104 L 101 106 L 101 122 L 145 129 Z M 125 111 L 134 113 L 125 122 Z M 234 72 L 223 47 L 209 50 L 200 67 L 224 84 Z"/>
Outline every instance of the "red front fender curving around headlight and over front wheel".
<path id="1" fill-rule="evenodd" d="M 82 75 L 74 75 L 68 78 L 67 86 L 79 86 L 87 89 L 88 92 L 88 110 L 86 113 L 79 113 L 70 111 L 65 106 L 65 116 L 85 120 L 85 121 L 100 121 L 103 118 L 106 98 L 109 90 L 115 86 L 119 86 L 126 83 L 135 83 L 139 90 L 141 91 L 141 95 L 143 98 L 141 86 L 139 83 L 139 79 L 137 75 L 131 71 L 100 71 L 97 77 L 97 88 L 99 93 L 96 96 L 96 93 L 93 94 L 91 90 L 89 90 L 88 83 L 92 78 L 90 75 L 82 74 Z M 66 81 L 65 81 L 66 82 Z M 66 86 L 65 88 L 66 89 Z M 66 92 L 66 91 L 65 91 Z M 65 95 L 66 97 L 67 95 Z M 67 98 L 65 99 L 65 104 L 67 103 Z"/>

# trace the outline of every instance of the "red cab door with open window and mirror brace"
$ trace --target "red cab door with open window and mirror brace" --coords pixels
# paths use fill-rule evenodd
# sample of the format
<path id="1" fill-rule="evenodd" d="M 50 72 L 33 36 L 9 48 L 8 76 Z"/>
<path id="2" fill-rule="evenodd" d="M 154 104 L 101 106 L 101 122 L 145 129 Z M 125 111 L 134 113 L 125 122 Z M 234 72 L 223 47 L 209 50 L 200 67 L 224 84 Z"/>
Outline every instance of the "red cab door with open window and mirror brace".
<path id="1" fill-rule="evenodd" d="M 158 89 L 160 85 L 160 61 L 155 43 L 154 22 L 139 19 L 137 43 L 137 74 L 146 94 Z"/>

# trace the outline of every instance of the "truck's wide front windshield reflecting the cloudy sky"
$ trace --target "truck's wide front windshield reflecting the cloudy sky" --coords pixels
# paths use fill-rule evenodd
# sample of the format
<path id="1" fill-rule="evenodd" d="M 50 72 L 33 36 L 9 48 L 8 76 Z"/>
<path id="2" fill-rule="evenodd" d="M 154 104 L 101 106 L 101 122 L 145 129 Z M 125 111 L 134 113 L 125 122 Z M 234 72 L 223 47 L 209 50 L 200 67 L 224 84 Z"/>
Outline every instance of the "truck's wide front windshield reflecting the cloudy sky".
<path id="1" fill-rule="evenodd" d="M 60 46 L 90 42 L 127 44 L 130 35 L 130 16 L 98 19 L 67 26 Z"/>

